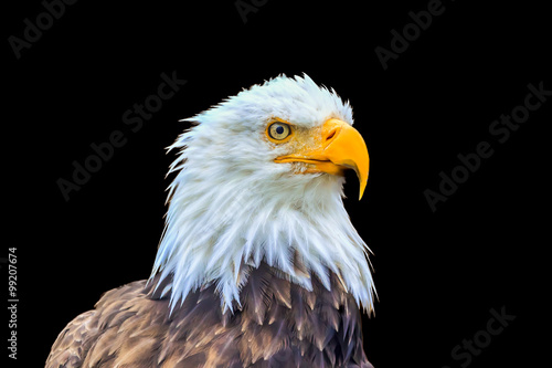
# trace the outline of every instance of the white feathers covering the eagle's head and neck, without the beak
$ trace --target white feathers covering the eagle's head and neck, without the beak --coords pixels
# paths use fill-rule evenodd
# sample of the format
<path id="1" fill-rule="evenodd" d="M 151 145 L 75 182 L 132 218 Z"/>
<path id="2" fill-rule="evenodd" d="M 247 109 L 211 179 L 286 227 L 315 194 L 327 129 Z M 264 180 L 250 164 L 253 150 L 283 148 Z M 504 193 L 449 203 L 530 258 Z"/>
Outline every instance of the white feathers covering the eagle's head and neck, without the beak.
<path id="1" fill-rule="evenodd" d="M 341 276 L 357 303 L 370 311 L 373 283 L 368 246 L 352 227 L 342 202 L 342 177 L 298 175 L 293 164 L 276 164 L 286 153 L 265 138 L 275 117 L 306 128 L 329 118 L 353 123 L 349 103 L 310 77 L 280 75 L 254 85 L 185 120 L 198 124 L 169 147 L 179 156 L 169 172 L 169 210 L 152 276 L 173 274 L 171 303 L 216 283 L 224 308 L 240 303 L 246 275 L 242 263 L 262 261 L 294 283 L 311 288 L 294 270 L 300 256 L 310 274 L 329 286 Z"/>

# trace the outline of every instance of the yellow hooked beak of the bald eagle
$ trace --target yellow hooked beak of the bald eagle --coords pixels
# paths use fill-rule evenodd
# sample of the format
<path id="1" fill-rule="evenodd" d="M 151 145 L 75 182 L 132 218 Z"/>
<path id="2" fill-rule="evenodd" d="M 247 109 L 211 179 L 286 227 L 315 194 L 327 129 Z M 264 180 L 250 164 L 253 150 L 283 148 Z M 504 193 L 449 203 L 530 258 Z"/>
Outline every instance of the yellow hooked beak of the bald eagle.
<path id="1" fill-rule="evenodd" d="M 317 137 L 312 137 L 314 143 L 301 145 L 296 154 L 277 157 L 274 161 L 306 162 L 306 174 L 343 175 L 344 169 L 353 169 L 360 181 L 360 200 L 367 187 L 370 167 L 364 139 L 352 126 L 335 118 L 327 120 L 320 134 L 318 132 Z"/>

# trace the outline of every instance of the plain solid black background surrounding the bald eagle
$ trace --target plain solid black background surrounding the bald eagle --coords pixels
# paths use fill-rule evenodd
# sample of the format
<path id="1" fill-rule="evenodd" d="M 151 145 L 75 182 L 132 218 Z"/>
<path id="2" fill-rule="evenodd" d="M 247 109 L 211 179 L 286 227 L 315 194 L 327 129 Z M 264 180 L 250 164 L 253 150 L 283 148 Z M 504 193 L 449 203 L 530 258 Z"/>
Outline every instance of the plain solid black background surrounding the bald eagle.
<path id="1" fill-rule="evenodd" d="M 346 187 L 352 221 L 374 253 L 379 302 L 363 325 L 369 359 L 375 367 L 460 367 L 466 360 L 453 359 L 452 349 L 486 328 L 490 308 L 505 307 L 516 319 L 469 366 L 534 365 L 548 346 L 539 333 L 546 335 L 550 290 L 543 132 L 552 97 L 503 144 L 489 126 L 523 104 L 529 83 L 552 90 L 550 17 L 529 2 L 444 1 L 443 14 L 384 71 L 374 49 L 390 49 L 390 31 L 401 32 L 408 12 L 427 3 L 272 0 L 244 23 L 234 1 L 79 1 L 19 60 L 6 41 L 15 365 L 43 366 L 62 328 L 103 292 L 149 276 L 174 158 L 164 147 L 188 127 L 178 119 L 279 73 L 302 72 L 351 102 L 370 151 L 362 201 L 354 177 Z M 23 20 L 43 11 L 40 1 L 10 9 L 4 40 L 22 38 Z M 188 83 L 132 133 L 123 114 L 173 71 Z M 84 162 L 91 144 L 114 130 L 126 145 L 65 201 L 56 180 L 71 180 L 72 162 Z M 450 174 L 457 155 L 482 140 L 493 155 L 432 212 L 424 190 L 438 190 L 439 172 Z"/>

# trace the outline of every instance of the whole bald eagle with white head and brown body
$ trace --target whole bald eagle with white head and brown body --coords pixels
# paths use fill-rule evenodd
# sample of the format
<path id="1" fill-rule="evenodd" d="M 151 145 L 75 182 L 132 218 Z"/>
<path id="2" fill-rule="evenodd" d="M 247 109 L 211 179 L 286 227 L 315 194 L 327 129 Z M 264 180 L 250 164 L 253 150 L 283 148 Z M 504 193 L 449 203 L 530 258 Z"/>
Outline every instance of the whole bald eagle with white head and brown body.
<path id="1" fill-rule="evenodd" d="M 279 75 L 184 120 L 151 276 L 73 319 L 46 367 L 372 367 L 369 249 L 342 201 L 343 171 L 360 197 L 369 171 L 349 102 Z"/>

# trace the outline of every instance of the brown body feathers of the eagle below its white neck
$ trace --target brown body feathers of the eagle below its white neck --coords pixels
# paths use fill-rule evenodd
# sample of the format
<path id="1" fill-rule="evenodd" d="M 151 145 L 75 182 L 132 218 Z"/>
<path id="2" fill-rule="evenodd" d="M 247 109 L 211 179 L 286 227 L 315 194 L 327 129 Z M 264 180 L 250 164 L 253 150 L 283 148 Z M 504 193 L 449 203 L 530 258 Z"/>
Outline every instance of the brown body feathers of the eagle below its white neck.
<path id="1" fill-rule="evenodd" d="M 264 263 L 247 272 L 234 313 L 214 285 L 172 314 L 158 280 L 112 290 L 62 330 L 46 368 L 372 367 L 359 308 L 335 274 L 331 291 L 314 278 L 309 292 Z"/>

